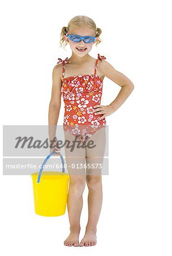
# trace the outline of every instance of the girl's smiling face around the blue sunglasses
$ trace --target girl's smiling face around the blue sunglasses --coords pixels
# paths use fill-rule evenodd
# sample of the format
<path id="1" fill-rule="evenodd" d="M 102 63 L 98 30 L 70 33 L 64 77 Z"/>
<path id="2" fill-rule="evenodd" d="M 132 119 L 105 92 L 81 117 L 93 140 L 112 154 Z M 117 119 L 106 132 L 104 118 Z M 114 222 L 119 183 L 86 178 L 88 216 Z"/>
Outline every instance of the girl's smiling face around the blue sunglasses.
<path id="1" fill-rule="evenodd" d="M 92 28 L 72 28 L 69 32 L 69 35 L 80 35 L 80 36 L 95 36 L 94 31 Z M 70 44 L 72 52 L 74 52 L 76 55 L 83 57 L 86 55 L 89 51 L 91 51 L 92 46 L 94 43 L 97 42 L 98 38 L 93 43 L 84 43 L 83 40 L 81 40 L 79 43 L 73 42 L 66 35 L 63 35 L 63 38 L 65 39 L 66 43 Z M 81 52 L 78 50 L 78 48 L 86 48 L 85 51 Z"/>

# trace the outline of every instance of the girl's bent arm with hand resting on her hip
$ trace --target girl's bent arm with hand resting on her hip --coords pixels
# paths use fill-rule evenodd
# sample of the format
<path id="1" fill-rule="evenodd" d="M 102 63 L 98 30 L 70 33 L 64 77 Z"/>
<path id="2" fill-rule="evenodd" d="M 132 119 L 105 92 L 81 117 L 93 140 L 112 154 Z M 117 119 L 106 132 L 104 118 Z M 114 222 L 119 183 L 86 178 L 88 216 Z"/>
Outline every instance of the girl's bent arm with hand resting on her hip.
<path id="1" fill-rule="evenodd" d="M 94 110 L 94 112 L 99 111 L 98 114 L 104 114 L 102 117 L 100 117 L 100 119 L 102 119 L 114 113 L 124 103 L 124 101 L 126 101 L 132 90 L 134 90 L 134 84 L 130 79 L 128 79 L 128 77 L 124 76 L 123 73 L 114 69 L 114 67 L 109 64 L 108 61 L 100 61 L 98 68 L 104 76 L 108 77 L 110 80 L 122 87 L 115 100 L 108 106 L 95 106 L 96 110 Z"/>

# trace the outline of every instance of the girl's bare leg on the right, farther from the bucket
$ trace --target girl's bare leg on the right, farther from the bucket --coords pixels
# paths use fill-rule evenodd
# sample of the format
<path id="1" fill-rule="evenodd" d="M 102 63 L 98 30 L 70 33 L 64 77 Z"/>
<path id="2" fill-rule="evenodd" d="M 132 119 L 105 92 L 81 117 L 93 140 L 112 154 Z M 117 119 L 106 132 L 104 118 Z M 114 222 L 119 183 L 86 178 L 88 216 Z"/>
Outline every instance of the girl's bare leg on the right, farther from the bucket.
<path id="1" fill-rule="evenodd" d="M 96 245 L 97 222 L 100 217 L 102 207 L 102 177 L 101 166 L 104 160 L 106 136 L 105 127 L 98 130 L 89 140 L 93 140 L 96 147 L 86 147 L 86 163 L 87 163 L 87 185 L 88 193 L 88 223 L 85 230 L 85 236 L 81 240 L 79 246 Z M 88 141 L 89 141 L 88 140 Z M 89 164 L 92 168 L 88 168 Z"/>

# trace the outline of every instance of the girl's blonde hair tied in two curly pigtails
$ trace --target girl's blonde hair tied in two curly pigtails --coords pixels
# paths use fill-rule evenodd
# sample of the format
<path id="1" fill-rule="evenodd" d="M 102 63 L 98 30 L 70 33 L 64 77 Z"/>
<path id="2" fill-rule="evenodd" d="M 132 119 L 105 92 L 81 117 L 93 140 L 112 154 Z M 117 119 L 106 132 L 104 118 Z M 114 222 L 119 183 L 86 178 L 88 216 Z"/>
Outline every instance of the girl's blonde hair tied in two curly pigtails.
<path id="1" fill-rule="evenodd" d="M 94 23 L 94 21 L 91 18 L 89 18 L 88 16 L 78 15 L 78 16 L 75 16 L 74 18 L 72 18 L 68 22 L 67 27 L 62 27 L 60 47 L 63 46 L 63 48 L 65 48 L 67 46 L 67 43 L 66 43 L 65 39 L 63 38 L 63 35 L 66 35 L 66 33 L 68 33 L 68 31 L 70 31 L 71 28 L 80 28 L 80 27 L 92 28 L 94 30 L 95 37 L 98 38 L 98 40 L 96 42 L 96 46 L 97 46 L 97 44 L 99 44 L 102 41 L 100 39 L 100 35 L 102 32 L 101 28 L 96 27 L 96 24 Z"/>

